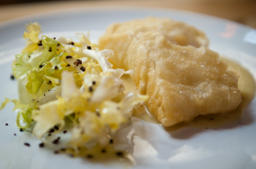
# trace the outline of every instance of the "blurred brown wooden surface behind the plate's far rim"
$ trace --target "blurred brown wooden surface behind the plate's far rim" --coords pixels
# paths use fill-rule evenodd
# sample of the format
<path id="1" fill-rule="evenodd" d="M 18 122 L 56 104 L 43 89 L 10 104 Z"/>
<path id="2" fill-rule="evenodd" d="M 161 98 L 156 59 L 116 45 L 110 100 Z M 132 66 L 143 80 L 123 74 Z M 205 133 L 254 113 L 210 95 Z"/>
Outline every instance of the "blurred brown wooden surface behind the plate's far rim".
<path id="1" fill-rule="evenodd" d="M 0 22 L 58 9 L 119 5 L 193 11 L 256 28 L 256 0 L 0 0 Z"/>

